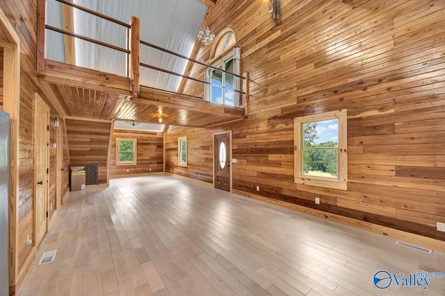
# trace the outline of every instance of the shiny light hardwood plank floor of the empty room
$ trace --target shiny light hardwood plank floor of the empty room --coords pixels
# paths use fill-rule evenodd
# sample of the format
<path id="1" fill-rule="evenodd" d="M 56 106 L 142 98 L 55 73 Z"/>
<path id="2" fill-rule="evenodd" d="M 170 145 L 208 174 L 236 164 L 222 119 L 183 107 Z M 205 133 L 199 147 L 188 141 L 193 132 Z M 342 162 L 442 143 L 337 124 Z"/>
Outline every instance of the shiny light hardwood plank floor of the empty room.
<path id="1" fill-rule="evenodd" d="M 378 290 L 378 270 L 445 271 L 445 254 L 154 175 L 69 193 L 18 295 L 445 295 Z"/>

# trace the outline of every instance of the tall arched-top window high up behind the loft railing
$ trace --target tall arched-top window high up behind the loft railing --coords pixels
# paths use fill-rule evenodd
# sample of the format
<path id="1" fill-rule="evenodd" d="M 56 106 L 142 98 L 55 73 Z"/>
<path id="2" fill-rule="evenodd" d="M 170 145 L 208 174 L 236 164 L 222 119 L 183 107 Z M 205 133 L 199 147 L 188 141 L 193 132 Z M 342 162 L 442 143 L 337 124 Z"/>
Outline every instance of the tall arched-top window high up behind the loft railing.
<path id="1" fill-rule="evenodd" d="M 230 74 L 240 75 L 241 53 L 236 46 L 235 33 L 231 28 L 225 28 L 216 37 L 210 52 L 210 61 L 213 67 L 204 72 L 204 80 L 211 83 L 206 85 L 204 97 L 207 101 L 223 105 L 241 107 L 240 78 Z M 229 72 L 229 73 L 227 73 Z"/>

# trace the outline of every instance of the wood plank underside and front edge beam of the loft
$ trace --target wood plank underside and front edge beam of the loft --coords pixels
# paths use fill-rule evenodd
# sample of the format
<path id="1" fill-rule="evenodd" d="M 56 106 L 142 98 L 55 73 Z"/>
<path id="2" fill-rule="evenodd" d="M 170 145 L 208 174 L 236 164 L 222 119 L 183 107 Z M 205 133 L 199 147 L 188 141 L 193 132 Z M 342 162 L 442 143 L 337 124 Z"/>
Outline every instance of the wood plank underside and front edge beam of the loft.
<path id="1" fill-rule="evenodd" d="M 219 105 L 192 96 L 141 87 L 138 98 L 129 92 L 129 78 L 46 61 L 40 78 L 66 116 L 103 120 L 132 120 L 207 127 L 244 119 L 244 110 Z"/>

